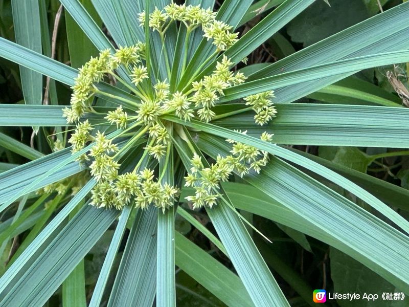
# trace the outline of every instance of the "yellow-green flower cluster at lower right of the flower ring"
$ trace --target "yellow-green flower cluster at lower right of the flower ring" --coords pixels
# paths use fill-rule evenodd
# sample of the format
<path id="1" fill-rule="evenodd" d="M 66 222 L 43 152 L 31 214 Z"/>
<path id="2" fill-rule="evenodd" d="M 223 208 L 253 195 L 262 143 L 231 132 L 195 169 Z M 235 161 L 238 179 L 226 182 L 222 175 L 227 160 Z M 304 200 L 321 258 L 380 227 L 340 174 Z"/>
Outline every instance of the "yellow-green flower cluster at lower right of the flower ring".
<path id="1" fill-rule="evenodd" d="M 246 134 L 246 131 L 241 132 Z M 272 135 L 264 132 L 261 140 L 271 142 Z M 210 167 L 204 167 L 200 156 L 194 154 L 191 160 L 192 167 L 188 176 L 185 177 L 185 186 L 194 187 L 195 194 L 187 196 L 186 199 L 192 203 L 193 208 L 209 206 L 217 203 L 221 197 L 220 183 L 228 181 L 230 175 L 235 172 L 240 177 L 245 176 L 254 170 L 259 173 L 261 167 L 268 162 L 268 152 L 257 149 L 240 142 L 226 140 L 233 144 L 231 155 L 226 157 L 218 156 L 216 163 Z"/>

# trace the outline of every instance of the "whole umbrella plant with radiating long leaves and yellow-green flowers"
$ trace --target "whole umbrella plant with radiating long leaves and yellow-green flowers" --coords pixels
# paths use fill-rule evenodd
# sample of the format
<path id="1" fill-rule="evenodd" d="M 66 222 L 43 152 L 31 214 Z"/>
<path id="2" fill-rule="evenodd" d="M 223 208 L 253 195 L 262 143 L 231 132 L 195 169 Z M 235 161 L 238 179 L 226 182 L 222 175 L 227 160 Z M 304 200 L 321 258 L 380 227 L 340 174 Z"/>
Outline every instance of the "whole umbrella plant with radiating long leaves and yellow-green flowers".
<path id="1" fill-rule="evenodd" d="M 49 43 L 42 55 L 33 41 L 30 31 L 47 18 L 43 1 L 12 1 L 16 43 L 0 38 L 0 56 L 21 67 L 25 98 L 0 105 L 0 125 L 42 127 L 52 151 L 8 145 L 33 161 L 0 174 L 0 210 L 17 208 L 0 242 L 32 229 L 0 277 L 0 305 L 43 305 L 61 284 L 67 305 L 84 305 L 83 259 L 111 225 L 90 306 L 175 305 L 175 266 L 226 305 L 288 305 L 253 239 L 268 238 L 244 211 L 315 237 L 409 289 L 409 224 L 396 211 L 407 210 L 407 191 L 288 147 L 408 147 L 409 112 L 396 102 L 298 100 L 358 71 L 409 61 L 409 3 L 277 62 L 247 65 L 314 0 L 225 0 L 218 10 L 212 0 L 92 1 L 107 31 L 82 2 L 60 2 L 98 50 L 81 67 L 52 59 Z M 38 15 L 33 27 L 23 22 L 27 12 Z M 263 18 L 241 33 L 256 16 Z M 41 75 L 51 78 L 50 104 L 41 104 Z M 57 100 L 55 81 L 70 87 L 68 105 Z M 35 215 L 39 207 L 46 213 Z M 206 213 L 217 237 L 184 208 Z M 177 214 L 237 274 L 175 230 Z"/>

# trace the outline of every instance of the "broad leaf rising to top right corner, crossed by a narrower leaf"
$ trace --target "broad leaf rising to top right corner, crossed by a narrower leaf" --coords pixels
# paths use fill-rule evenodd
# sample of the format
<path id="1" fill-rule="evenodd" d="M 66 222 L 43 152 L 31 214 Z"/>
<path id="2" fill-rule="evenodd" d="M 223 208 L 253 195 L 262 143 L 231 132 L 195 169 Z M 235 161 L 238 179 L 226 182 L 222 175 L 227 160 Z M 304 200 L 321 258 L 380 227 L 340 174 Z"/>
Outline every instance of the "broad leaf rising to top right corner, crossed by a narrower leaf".
<path id="1" fill-rule="evenodd" d="M 253 74 L 249 81 L 279 74 L 283 70 L 288 72 L 349 57 L 406 49 L 404 41 L 409 39 L 409 25 L 404 19 L 408 12 L 409 3 L 396 6 L 271 64 Z M 276 102 L 294 101 L 348 75 L 350 73 L 283 87 L 275 93 Z"/>

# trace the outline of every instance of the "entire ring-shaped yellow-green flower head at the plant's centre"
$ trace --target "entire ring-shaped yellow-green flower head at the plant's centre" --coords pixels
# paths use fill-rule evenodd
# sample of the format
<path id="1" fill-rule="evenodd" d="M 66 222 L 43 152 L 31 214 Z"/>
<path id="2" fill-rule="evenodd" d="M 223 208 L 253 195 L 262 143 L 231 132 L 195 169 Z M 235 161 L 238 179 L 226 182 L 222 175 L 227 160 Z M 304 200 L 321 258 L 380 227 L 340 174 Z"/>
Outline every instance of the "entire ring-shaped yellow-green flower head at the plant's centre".
<path id="1" fill-rule="evenodd" d="M 157 31 L 164 42 L 164 34 L 169 25 L 175 23 L 187 27 L 186 41 L 189 33 L 201 27 L 203 36 L 212 39 L 217 46 L 218 53 L 228 49 L 237 40 L 237 33 L 231 33 L 232 27 L 215 19 L 216 14 L 210 9 L 199 6 L 170 4 L 164 10 L 155 9 L 149 14 L 148 25 L 152 31 Z M 146 14 L 139 16 L 141 25 L 145 25 Z M 165 50 L 166 53 L 166 50 Z M 144 138 L 148 141 L 144 148 L 144 155 L 149 155 L 160 161 L 168 158 L 171 151 L 173 128 L 172 124 L 163 120 L 163 115 L 174 114 L 185 122 L 192 118 L 209 122 L 215 117 L 213 107 L 224 95 L 224 90 L 245 82 L 246 77 L 241 72 L 233 72 L 234 63 L 225 55 L 216 63 L 211 75 L 201 79 L 194 78 L 191 83 L 180 90 L 170 90 L 167 79 L 154 78 L 147 60 L 146 46 L 138 42 L 133 46 L 120 47 L 115 52 L 104 50 L 98 57 L 91 58 L 79 70 L 72 87 L 71 106 L 63 110 L 68 123 L 75 123 L 76 128 L 69 139 L 72 152 L 84 151 L 77 161 L 87 163 L 90 174 L 97 181 L 92 191 L 92 204 L 96 207 L 121 209 L 134 204 L 138 208 L 147 208 L 149 204 L 165 210 L 173 203 L 178 195 L 178 189 L 155 181 L 154 170 L 145 168 L 140 170 L 140 163 L 133 171 L 123 173 L 120 159 L 129 148 Z M 167 55 L 165 55 L 165 59 Z M 208 59 L 208 60 L 209 60 Z M 186 56 L 183 61 L 182 74 L 186 67 Z M 169 68 L 169 63 L 167 63 Z M 126 76 L 127 75 L 127 76 Z M 109 78 L 107 78 L 109 76 Z M 171 74 L 168 70 L 168 78 Z M 99 83 L 115 80 L 134 94 L 134 99 L 116 96 L 102 91 Z M 126 102 L 107 113 L 99 113 L 94 109 L 91 101 L 94 95 L 101 98 L 115 99 L 116 103 Z M 262 125 L 275 117 L 276 110 L 272 105 L 272 92 L 256 94 L 245 98 L 247 109 L 256 112 L 255 121 Z M 94 128 L 88 121 L 87 114 L 104 118 L 104 131 Z M 102 116 L 101 116 L 102 115 Z M 106 125 L 110 127 L 106 127 Z M 138 129 L 138 132 L 135 130 Z M 109 131 L 117 130 L 109 134 Z M 129 138 L 130 136 L 130 138 Z M 121 138 L 125 143 L 120 143 Z M 263 134 L 263 140 L 270 141 L 271 135 Z M 257 148 L 231 141 L 231 155 L 218 157 L 210 168 L 203 167 L 199 156 L 192 160 L 192 169 L 186 178 L 188 185 L 195 186 L 196 196 L 189 200 L 195 207 L 203 205 L 213 206 L 220 196 L 220 182 L 228 180 L 232 172 L 244 176 L 248 171 L 259 172 L 268 161 L 268 154 Z M 91 145 L 89 145 L 91 144 Z M 141 143 L 139 143 L 141 144 Z M 84 150 L 89 145 L 87 151 Z M 59 147 L 61 147 L 59 145 Z M 149 159 L 150 159 L 149 157 Z M 161 160 L 162 161 L 162 160 Z M 161 176 L 159 176 L 162 178 Z"/>

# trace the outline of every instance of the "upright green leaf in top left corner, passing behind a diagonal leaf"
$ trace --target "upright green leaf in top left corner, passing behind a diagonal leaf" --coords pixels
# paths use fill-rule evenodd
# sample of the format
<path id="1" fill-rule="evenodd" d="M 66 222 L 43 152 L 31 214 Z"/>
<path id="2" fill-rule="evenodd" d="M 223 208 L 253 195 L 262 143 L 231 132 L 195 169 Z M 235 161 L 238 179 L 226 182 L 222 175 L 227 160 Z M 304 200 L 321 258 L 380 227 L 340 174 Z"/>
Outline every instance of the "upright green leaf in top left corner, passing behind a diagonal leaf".
<path id="1" fill-rule="evenodd" d="M 16 42 L 21 46 L 41 53 L 41 26 L 38 0 L 12 0 L 11 4 Z M 20 77 L 25 103 L 41 104 L 41 75 L 25 67 L 20 67 Z"/>

